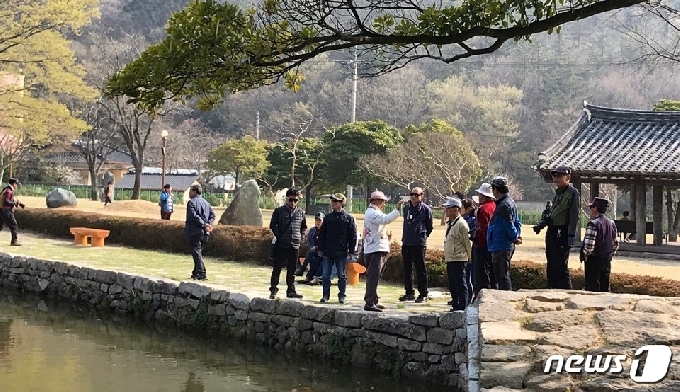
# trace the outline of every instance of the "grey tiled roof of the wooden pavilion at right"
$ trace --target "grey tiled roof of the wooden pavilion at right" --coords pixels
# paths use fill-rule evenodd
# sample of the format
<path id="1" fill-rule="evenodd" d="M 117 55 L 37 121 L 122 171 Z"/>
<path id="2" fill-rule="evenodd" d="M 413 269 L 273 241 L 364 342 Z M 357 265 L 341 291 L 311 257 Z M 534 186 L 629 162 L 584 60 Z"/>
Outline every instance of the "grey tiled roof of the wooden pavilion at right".
<path id="1" fill-rule="evenodd" d="M 680 112 L 585 105 L 583 115 L 539 154 L 544 176 L 567 165 L 577 176 L 680 179 Z"/>

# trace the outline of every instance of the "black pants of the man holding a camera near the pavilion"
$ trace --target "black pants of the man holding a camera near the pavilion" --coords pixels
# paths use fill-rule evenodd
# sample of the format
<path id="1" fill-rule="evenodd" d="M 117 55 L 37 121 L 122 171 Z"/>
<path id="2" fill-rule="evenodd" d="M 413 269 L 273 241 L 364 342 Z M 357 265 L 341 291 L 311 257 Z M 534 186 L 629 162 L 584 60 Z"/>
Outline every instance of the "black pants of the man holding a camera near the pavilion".
<path id="1" fill-rule="evenodd" d="M 545 234 L 545 257 L 548 262 L 548 288 L 571 290 L 567 226 L 548 226 Z"/>

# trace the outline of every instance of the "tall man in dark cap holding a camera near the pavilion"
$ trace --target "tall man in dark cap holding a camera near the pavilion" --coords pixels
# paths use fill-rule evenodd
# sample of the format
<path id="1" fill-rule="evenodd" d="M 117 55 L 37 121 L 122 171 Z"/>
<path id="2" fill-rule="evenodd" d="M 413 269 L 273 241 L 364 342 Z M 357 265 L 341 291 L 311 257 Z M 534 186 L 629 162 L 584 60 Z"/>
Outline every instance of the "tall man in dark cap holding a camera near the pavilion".
<path id="1" fill-rule="evenodd" d="M 576 239 L 581 199 L 578 190 L 569 185 L 572 174 L 570 167 L 557 166 L 551 174 L 557 189 L 550 214 L 544 220 L 548 226 L 545 233 L 548 288 L 569 290 L 572 288 L 569 250 Z M 541 227 L 534 226 L 534 231 L 536 234 L 540 233 Z"/>

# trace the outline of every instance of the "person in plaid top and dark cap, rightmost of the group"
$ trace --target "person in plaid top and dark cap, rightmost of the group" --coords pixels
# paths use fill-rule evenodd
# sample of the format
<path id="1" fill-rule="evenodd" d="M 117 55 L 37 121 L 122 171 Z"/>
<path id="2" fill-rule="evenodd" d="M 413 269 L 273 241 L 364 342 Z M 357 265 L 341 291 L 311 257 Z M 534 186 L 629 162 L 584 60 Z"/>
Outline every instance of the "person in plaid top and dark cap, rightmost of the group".
<path id="1" fill-rule="evenodd" d="M 596 197 L 589 207 L 591 220 L 586 226 L 580 255 L 581 262 L 586 267 L 585 289 L 606 292 L 609 291 L 612 255 L 619 247 L 616 225 L 604 215 L 609 207 L 609 200 Z"/>

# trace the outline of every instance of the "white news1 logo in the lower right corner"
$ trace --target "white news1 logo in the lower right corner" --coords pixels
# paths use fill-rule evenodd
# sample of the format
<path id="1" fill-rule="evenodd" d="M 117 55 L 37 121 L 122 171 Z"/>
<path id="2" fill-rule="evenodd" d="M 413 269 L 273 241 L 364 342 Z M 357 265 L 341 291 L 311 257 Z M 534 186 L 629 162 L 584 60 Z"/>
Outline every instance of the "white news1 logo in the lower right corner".
<path id="1" fill-rule="evenodd" d="M 640 362 L 647 354 L 644 365 Z M 639 384 L 652 384 L 666 377 L 671 366 L 673 352 L 668 346 L 642 346 L 635 351 L 630 366 L 630 378 Z M 551 373 L 553 364 L 557 365 L 555 373 L 621 373 L 622 362 L 628 357 L 625 354 L 608 355 L 570 355 L 566 359 L 561 355 L 551 355 L 545 361 L 543 373 Z"/>

